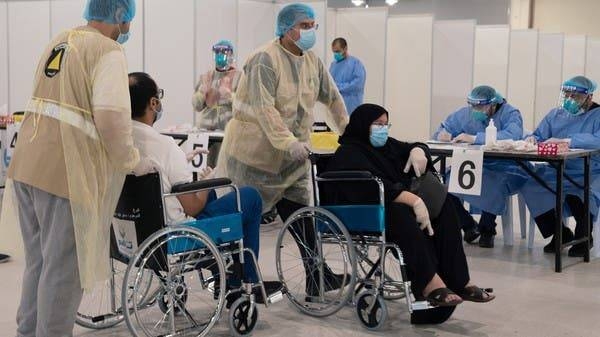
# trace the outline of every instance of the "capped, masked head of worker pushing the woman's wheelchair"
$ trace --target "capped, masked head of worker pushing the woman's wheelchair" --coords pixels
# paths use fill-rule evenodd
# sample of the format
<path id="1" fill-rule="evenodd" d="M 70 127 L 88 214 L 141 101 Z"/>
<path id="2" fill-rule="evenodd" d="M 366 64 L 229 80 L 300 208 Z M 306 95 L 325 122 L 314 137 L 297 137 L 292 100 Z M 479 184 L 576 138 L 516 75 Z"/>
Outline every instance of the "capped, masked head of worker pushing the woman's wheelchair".
<path id="1" fill-rule="evenodd" d="M 292 48 L 291 52 L 301 54 L 311 49 L 317 40 L 315 11 L 305 4 L 289 4 L 277 15 L 275 34 L 281 39 L 284 47 Z"/>

